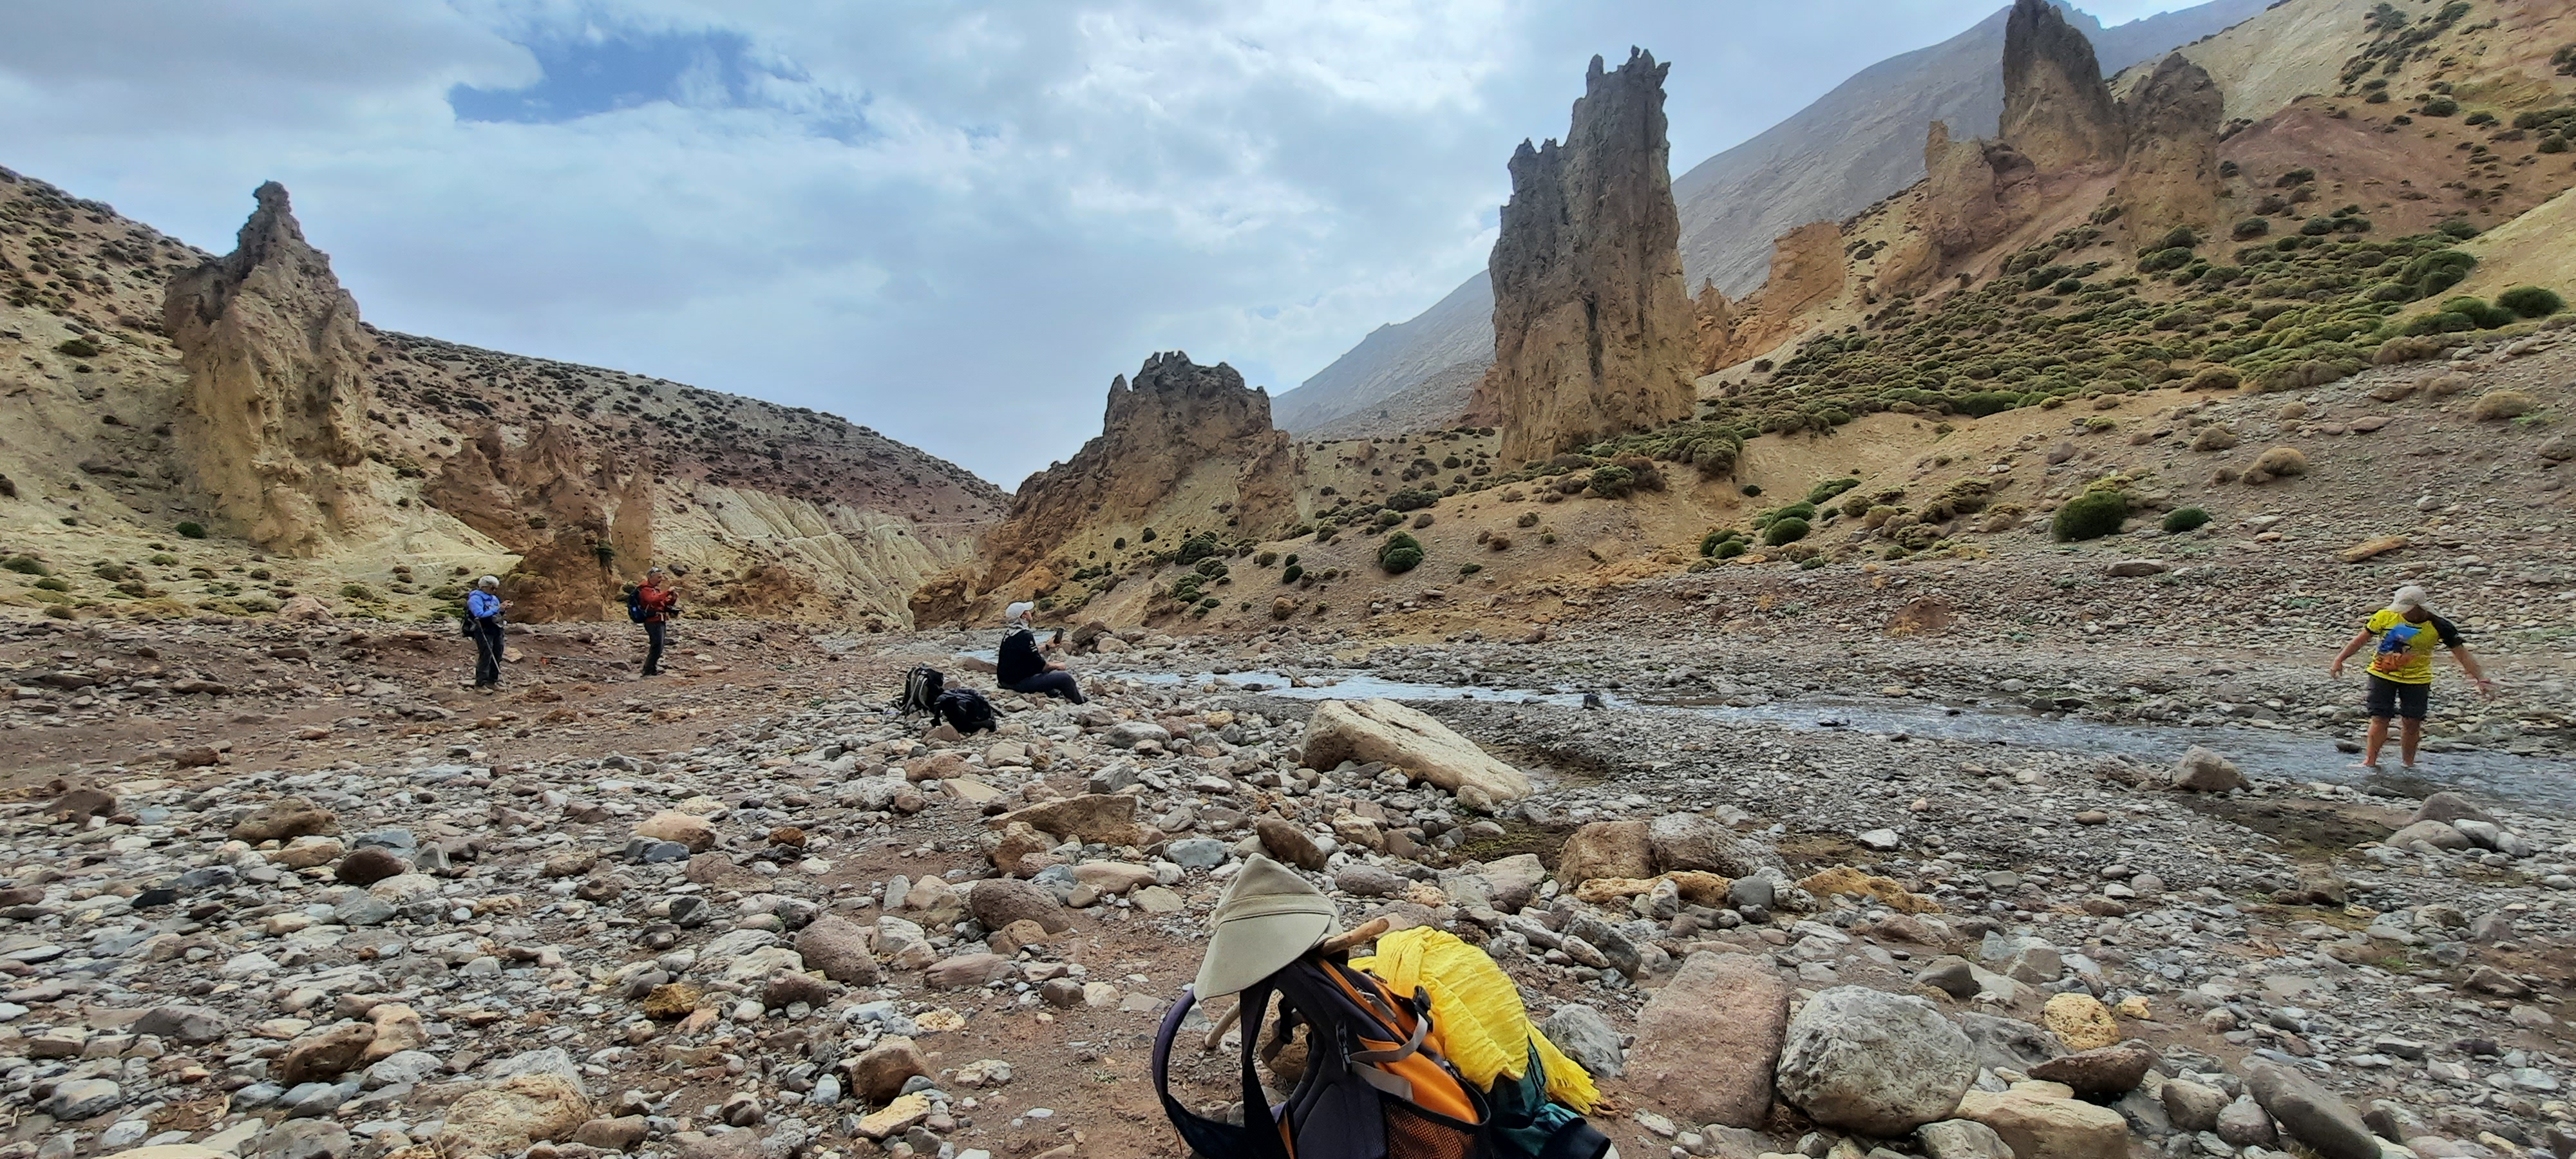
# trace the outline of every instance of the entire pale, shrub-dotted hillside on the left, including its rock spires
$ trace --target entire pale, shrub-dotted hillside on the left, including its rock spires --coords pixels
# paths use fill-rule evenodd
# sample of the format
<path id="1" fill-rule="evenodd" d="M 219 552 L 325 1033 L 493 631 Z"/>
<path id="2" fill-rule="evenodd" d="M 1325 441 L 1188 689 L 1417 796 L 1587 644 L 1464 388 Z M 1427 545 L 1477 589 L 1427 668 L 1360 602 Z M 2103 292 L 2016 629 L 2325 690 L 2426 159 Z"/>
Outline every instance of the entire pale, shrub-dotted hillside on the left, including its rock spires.
<path id="1" fill-rule="evenodd" d="M 278 185 L 191 250 L 0 173 L 0 518 L 52 613 L 417 616 L 474 572 L 605 618 L 649 561 L 703 613 L 907 623 L 999 492 L 801 407 L 368 327 Z"/>

